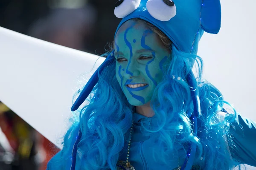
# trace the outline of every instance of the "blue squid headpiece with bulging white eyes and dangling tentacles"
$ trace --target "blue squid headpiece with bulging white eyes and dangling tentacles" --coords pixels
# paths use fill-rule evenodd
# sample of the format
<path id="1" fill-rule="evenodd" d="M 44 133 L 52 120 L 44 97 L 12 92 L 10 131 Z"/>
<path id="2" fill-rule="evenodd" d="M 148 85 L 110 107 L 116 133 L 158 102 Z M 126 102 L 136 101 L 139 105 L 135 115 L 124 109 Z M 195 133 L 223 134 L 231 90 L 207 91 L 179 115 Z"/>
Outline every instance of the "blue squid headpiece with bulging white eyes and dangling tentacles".
<path id="1" fill-rule="evenodd" d="M 140 18 L 145 20 L 166 34 L 173 42 L 177 50 L 197 54 L 198 43 L 204 31 L 217 34 L 221 27 L 221 4 L 220 0 L 118 0 L 114 10 L 116 17 L 122 18 L 119 28 L 128 20 Z M 115 58 L 114 51 L 109 54 L 102 65 L 93 74 L 85 85 L 81 94 L 72 106 L 72 111 L 76 111 L 85 101 L 98 82 L 98 75 Z M 186 77 L 186 81 L 191 88 L 191 96 L 194 105 L 192 115 L 188 115 L 194 135 L 197 135 L 197 117 L 200 116 L 200 101 L 197 81 L 192 71 Z M 79 136 L 81 132 L 79 131 Z M 73 162 L 71 169 L 75 168 L 76 150 L 78 140 L 73 148 Z M 182 170 L 190 170 L 195 159 L 196 145 L 191 144 L 187 151 L 187 158 L 181 167 Z"/>

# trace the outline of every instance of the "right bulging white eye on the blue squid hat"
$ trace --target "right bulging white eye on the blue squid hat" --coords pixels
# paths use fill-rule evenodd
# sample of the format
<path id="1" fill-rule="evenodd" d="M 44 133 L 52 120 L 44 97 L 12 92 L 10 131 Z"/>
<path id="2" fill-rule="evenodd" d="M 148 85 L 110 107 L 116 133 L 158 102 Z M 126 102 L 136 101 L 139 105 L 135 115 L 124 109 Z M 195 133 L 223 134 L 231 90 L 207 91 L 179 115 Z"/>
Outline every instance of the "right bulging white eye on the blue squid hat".
<path id="1" fill-rule="evenodd" d="M 148 0 L 147 9 L 152 17 L 160 21 L 169 21 L 176 15 L 173 0 Z"/>

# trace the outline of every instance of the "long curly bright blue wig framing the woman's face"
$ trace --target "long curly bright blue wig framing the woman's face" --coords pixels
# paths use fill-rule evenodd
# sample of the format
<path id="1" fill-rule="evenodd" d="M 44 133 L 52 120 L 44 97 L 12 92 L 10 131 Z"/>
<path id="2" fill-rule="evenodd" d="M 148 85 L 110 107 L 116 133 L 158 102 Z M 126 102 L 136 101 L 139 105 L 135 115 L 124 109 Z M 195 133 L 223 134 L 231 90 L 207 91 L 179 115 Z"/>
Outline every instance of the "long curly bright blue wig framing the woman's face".
<path id="1" fill-rule="evenodd" d="M 179 51 L 175 45 L 170 48 L 171 62 L 163 65 L 163 81 L 155 88 L 151 100 L 158 128 L 154 131 L 144 130 L 154 133 L 155 144 L 161 146 L 160 150 L 158 148 L 154 152 L 154 159 L 170 164 L 174 156 L 186 157 L 192 143 L 197 146 L 194 166 L 204 170 L 209 167 L 212 170 L 232 169 L 234 162 L 229 147 L 234 145 L 229 134 L 229 122 L 235 119 L 236 112 L 223 120 L 218 119 L 218 113 L 223 111 L 223 105 L 227 102 L 217 88 L 201 79 L 202 59 L 195 54 Z M 192 131 L 188 116 L 192 114 L 194 106 L 186 81 L 195 61 L 202 113 L 197 119 L 197 135 Z M 99 81 L 88 98 L 90 103 L 81 110 L 79 124 L 75 122 L 67 131 L 64 147 L 49 162 L 49 170 L 70 169 L 72 150 L 79 134 L 76 169 L 116 170 L 119 152 L 128 140 L 135 108 L 128 103 L 117 82 L 115 63 L 115 60 L 110 60 L 98 73 Z M 146 127 L 142 125 L 141 128 Z"/>

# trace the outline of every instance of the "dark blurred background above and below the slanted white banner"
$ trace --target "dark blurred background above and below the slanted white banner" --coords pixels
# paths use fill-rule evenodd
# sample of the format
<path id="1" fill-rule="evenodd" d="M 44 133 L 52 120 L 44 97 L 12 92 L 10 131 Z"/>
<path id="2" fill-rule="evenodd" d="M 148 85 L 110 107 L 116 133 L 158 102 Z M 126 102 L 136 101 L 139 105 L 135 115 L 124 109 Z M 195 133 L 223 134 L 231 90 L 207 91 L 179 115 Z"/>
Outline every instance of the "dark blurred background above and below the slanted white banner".
<path id="1" fill-rule="evenodd" d="M 0 0 L 0 26 L 103 54 L 119 19 L 116 0 Z M 0 170 L 45 170 L 59 149 L 0 102 Z"/>

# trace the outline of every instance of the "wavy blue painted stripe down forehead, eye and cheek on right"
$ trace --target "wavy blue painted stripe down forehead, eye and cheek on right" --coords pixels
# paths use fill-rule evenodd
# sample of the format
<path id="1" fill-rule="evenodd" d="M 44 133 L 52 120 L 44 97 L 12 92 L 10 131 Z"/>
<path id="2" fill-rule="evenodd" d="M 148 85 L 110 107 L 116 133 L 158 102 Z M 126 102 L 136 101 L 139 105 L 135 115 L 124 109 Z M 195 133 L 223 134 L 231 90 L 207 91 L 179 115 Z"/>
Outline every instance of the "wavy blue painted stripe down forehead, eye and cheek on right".
<path id="1" fill-rule="evenodd" d="M 148 46 L 148 45 L 145 45 L 145 38 L 148 34 L 151 34 L 152 31 L 151 30 L 146 30 L 144 31 L 143 33 L 143 36 L 141 37 L 141 46 L 147 50 L 150 50 L 152 51 L 152 49 Z M 147 65 L 146 65 L 146 74 L 148 75 L 148 77 L 152 80 L 152 82 L 154 83 L 155 86 L 157 86 L 157 82 L 153 79 L 153 77 L 150 75 L 149 71 L 148 71 L 148 65 L 154 61 L 155 57 L 156 57 L 156 54 L 154 51 L 152 51 L 152 55 L 153 55 L 153 59 L 151 59 L 150 61 L 147 62 Z"/>

